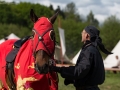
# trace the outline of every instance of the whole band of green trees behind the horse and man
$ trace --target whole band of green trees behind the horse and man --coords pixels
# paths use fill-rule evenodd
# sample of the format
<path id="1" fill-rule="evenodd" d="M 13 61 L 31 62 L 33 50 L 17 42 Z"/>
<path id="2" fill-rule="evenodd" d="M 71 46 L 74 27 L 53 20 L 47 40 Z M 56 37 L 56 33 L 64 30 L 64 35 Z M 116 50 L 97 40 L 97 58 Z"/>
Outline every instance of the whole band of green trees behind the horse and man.
<path id="1" fill-rule="evenodd" d="M 86 22 L 83 22 L 81 16 L 77 12 L 77 8 L 73 2 L 68 3 L 61 10 L 58 6 L 54 10 L 53 6 L 49 7 L 32 4 L 32 3 L 5 3 L 0 4 L 0 38 L 15 33 L 19 37 L 31 34 L 33 22 L 30 20 L 30 9 L 34 9 L 37 16 L 51 17 L 57 10 L 59 16 L 54 24 L 56 39 L 60 45 L 58 27 L 65 30 L 66 53 L 69 57 L 73 57 L 82 47 L 81 32 L 87 25 L 95 25 L 101 31 L 103 44 L 111 51 L 120 39 L 120 20 L 115 16 L 108 17 L 102 26 L 94 18 L 92 11 L 87 15 Z"/>

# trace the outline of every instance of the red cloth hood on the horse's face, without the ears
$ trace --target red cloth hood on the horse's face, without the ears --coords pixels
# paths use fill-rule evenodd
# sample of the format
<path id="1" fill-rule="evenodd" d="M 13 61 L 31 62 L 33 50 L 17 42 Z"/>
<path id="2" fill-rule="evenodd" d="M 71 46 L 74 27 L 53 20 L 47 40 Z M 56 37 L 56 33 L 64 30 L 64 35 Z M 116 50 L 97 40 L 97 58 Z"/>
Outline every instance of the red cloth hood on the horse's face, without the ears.
<path id="1" fill-rule="evenodd" d="M 34 50 L 42 49 L 51 56 L 55 49 L 55 42 L 50 37 L 51 31 L 53 31 L 52 23 L 48 18 L 41 17 L 34 23 L 33 31 L 35 31 L 33 40 Z"/>

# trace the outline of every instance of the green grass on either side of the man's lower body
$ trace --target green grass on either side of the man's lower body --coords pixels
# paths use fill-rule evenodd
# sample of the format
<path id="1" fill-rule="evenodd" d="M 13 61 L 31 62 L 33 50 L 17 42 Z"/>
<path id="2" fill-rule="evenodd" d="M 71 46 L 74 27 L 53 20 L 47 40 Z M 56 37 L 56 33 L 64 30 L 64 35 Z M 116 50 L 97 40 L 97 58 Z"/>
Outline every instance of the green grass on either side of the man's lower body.
<path id="1" fill-rule="evenodd" d="M 120 72 L 114 74 L 112 71 L 106 72 L 106 79 L 102 85 L 99 85 L 101 90 L 120 90 Z M 58 90 L 75 90 L 72 84 L 64 85 L 64 79 L 59 75 Z"/>

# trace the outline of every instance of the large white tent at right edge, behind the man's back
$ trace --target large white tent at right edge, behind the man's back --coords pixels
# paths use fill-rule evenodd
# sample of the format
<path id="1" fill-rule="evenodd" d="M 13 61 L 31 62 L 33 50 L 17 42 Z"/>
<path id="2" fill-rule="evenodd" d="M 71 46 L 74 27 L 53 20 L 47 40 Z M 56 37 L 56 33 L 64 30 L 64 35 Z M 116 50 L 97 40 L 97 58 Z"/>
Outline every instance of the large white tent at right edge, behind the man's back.
<path id="1" fill-rule="evenodd" d="M 105 68 L 111 68 L 113 66 L 117 65 L 116 56 L 120 59 L 120 41 L 116 44 L 116 46 L 113 48 L 111 55 L 108 55 L 104 60 L 104 66 Z"/>

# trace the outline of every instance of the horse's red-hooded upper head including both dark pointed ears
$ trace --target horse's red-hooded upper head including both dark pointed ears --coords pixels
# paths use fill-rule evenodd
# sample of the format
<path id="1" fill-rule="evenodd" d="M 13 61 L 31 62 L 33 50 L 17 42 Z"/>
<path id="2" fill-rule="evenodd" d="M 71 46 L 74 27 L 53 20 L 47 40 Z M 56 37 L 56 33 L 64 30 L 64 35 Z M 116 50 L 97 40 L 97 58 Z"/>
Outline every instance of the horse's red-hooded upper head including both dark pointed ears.
<path id="1" fill-rule="evenodd" d="M 55 34 L 52 24 L 54 24 L 58 12 L 49 19 L 46 17 L 38 18 L 37 15 L 34 13 L 33 9 L 31 9 L 30 17 L 31 20 L 34 22 L 33 31 L 35 32 L 33 38 L 34 53 L 42 49 L 47 52 L 49 56 L 53 57 L 55 49 Z"/>

